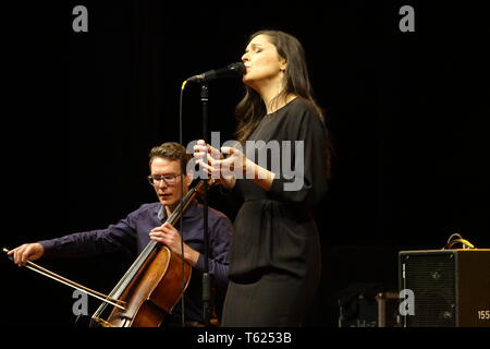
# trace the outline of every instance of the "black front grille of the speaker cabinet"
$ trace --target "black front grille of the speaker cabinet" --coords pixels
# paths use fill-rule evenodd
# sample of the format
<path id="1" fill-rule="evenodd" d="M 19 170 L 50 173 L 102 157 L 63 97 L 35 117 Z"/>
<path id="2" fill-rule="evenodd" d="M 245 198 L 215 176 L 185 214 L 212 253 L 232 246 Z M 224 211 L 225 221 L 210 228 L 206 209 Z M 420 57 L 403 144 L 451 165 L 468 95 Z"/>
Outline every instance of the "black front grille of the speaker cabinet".
<path id="1" fill-rule="evenodd" d="M 415 316 L 406 316 L 407 326 L 454 326 L 454 254 L 401 255 L 402 288 L 414 291 Z"/>

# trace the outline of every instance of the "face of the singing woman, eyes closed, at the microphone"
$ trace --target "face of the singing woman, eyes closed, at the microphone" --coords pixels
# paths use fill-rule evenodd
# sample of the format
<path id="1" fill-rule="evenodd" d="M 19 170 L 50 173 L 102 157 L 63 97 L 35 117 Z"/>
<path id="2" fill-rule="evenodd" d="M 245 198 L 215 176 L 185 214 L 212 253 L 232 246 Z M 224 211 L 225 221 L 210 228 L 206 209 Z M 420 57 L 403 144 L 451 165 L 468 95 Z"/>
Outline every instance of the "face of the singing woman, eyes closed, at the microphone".
<path id="1" fill-rule="evenodd" d="M 243 82 L 253 88 L 282 79 L 281 71 L 286 68 L 285 59 L 279 57 L 275 46 L 270 43 L 269 36 L 264 34 L 250 40 L 242 61 L 246 67 Z"/>

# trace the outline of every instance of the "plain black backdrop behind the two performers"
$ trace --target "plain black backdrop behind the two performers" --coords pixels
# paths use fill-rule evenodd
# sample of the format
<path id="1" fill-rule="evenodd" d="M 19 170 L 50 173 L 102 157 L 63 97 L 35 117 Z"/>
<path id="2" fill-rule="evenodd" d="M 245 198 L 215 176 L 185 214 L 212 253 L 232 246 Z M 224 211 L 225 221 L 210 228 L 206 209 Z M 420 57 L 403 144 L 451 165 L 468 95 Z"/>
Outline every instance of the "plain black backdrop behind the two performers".
<path id="1" fill-rule="evenodd" d="M 490 248 L 488 19 L 469 2 L 427 2 L 69 1 L 5 11 L 1 245 L 105 228 L 155 201 L 147 154 L 179 141 L 182 82 L 238 61 L 249 34 L 278 28 L 304 44 L 335 148 L 316 212 L 323 278 L 305 325 L 336 326 L 336 299 L 354 282 L 396 289 L 399 251 L 440 249 L 454 232 Z M 72 31 L 76 4 L 88 9 L 88 33 Z M 415 9 L 415 33 L 399 29 L 404 4 Z M 209 88 L 209 130 L 231 140 L 242 85 Z M 201 139 L 195 85 L 183 119 L 184 144 Z M 237 209 L 217 192 L 210 205 L 231 219 Z M 42 265 L 109 292 L 127 263 L 114 254 Z M 0 267 L 8 325 L 74 326 L 72 289 L 4 257 Z"/>

